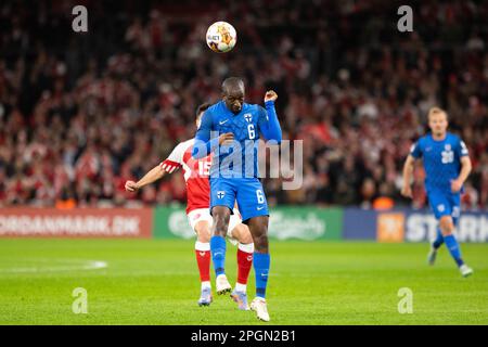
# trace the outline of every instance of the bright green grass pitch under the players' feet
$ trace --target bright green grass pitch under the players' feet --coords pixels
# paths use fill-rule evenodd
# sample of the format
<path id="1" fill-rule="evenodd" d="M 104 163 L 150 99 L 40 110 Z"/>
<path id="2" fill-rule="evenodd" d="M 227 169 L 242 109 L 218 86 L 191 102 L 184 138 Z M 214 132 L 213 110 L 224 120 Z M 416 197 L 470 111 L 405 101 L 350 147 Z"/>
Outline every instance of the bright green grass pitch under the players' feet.
<path id="1" fill-rule="evenodd" d="M 193 244 L 0 240 L 0 324 L 265 324 L 228 296 L 196 305 Z M 445 248 L 427 267 L 427 244 L 271 241 L 270 249 L 266 324 L 488 324 L 488 244 L 461 246 L 475 270 L 467 279 Z M 228 244 L 231 283 L 235 252 Z M 76 287 L 87 290 L 87 314 L 72 311 Z M 410 314 L 398 312 L 401 287 L 413 293 Z"/>

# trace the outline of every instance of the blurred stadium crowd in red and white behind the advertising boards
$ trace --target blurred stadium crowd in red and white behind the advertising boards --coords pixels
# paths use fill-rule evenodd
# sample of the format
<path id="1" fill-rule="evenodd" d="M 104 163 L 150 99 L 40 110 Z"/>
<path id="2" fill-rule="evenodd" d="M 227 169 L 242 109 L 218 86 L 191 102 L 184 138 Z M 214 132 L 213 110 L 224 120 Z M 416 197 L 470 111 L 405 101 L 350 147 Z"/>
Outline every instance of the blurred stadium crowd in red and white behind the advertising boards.
<path id="1" fill-rule="evenodd" d="M 422 169 L 411 203 L 401 167 L 440 105 L 474 164 L 464 207 L 488 207 L 487 2 L 419 2 L 413 33 L 377 1 L 84 3 L 88 33 L 72 1 L 0 3 L 0 206 L 183 203 L 182 175 L 137 196 L 124 183 L 192 138 L 233 75 L 248 102 L 273 88 L 284 138 L 304 140 L 304 184 L 266 179 L 271 205 L 424 207 Z M 204 39 L 220 18 L 239 33 L 223 55 Z"/>

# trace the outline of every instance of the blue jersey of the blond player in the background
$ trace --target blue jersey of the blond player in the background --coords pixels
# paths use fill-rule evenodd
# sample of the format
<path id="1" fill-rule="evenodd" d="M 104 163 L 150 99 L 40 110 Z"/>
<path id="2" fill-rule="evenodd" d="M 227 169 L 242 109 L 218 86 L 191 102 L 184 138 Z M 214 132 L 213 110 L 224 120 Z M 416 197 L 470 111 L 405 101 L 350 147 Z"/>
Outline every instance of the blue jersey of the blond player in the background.
<path id="1" fill-rule="evenodd" d="M 461 171 L 461 157 L 468 155 L 464 142 L 450 132 L 440 141 L 434 140 L 431 133 L 420 138 L 410 154 L 423 159 L 427 193 L 436 189 L 450 192 L 451 181 Z"/>

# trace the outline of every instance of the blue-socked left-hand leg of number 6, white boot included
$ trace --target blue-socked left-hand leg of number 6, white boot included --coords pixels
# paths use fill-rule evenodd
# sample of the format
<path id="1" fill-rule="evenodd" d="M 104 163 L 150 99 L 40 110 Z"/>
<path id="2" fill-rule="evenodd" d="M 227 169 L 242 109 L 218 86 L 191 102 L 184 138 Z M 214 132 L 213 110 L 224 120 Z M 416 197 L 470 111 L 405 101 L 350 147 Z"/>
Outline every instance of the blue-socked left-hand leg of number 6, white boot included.
<path id="1" fill-rule="evenodd" d="M 214 206 L 211 215 L 214 216 L 210 239 L 211 260 L 216 274 L 216 291 L 217 294 L 222 295 L 232 291 L 224 270 L 226 236 L 229 228 L 230 209 L 226 206 Z"/>

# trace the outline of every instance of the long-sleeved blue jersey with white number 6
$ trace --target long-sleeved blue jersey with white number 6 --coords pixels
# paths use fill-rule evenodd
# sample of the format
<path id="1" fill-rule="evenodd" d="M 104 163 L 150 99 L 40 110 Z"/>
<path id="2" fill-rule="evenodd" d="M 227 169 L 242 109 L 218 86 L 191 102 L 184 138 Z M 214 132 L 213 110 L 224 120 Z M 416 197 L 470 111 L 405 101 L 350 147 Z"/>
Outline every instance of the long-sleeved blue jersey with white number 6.
<path id="1" fill-rule="evenodd" d="M 234 142 L 218 145 L 218 137 L 227 132 L 233 133 Z M 274 102 L 268 101 L 266 108 L 244 103 L 241 112 L 234 114 L 220 101 L 205 111 L 192 155 L 198 158 L 210 151 L 214 153 L 210 177 L 256 178 L 260 134 L 266 140 L 281 142 Z"/>

